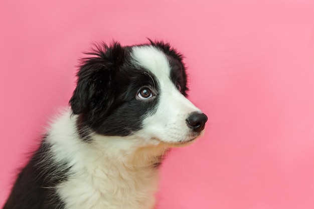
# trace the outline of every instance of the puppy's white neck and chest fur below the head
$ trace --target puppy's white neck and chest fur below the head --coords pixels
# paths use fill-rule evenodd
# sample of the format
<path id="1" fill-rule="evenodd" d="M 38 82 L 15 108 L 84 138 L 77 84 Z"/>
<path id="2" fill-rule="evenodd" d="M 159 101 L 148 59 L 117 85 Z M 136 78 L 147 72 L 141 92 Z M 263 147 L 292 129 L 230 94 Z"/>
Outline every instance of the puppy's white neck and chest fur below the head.
<path id="1" fill-rule="evenodd" d="M 153 208 L 158 169 L 152 164 L 165 147 L 141 147 L 141 139 L 99 135 L 83 142 L 74 121 L 66 113 L 52 124 L 48 138 L 56 163 L 67 162 L 70 167 L 69 177 L 57 185 L 65 208 Z"/>

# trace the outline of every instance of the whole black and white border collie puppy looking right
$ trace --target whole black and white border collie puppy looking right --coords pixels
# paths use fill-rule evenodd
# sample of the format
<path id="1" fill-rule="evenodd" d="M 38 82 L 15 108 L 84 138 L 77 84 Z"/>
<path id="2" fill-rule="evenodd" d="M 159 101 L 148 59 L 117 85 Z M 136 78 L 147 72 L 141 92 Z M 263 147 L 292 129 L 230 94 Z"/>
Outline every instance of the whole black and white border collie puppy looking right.
<path id="1" fill-rule="evenodd" d="M 203 134 L 183 56 L 169 44 L 96 46 L 70 107 L 22 169 L 4 209 L 151 209 L 171 147 Z"/>

